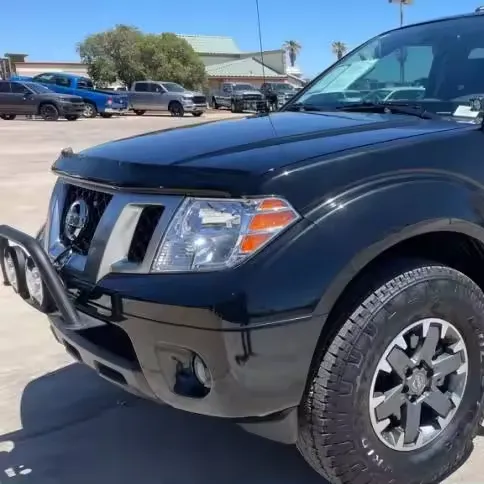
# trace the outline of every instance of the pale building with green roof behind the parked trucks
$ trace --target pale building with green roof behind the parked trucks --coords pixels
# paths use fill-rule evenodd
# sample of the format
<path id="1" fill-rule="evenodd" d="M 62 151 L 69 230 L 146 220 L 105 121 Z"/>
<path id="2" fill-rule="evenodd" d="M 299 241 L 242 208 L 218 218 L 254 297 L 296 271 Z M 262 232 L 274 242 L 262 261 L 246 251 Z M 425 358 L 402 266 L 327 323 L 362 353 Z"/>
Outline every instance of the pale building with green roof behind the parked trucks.
<path id="1" fill-rule="evenodd" d="M 284 49 L 262 52 L 243 52 L 232 37 L 215 35 L 182 35 L 200 56 L 211 89 L 223 82 L 243 82 L 260 86 L 268 82 L 289 82 L 303 85 L 296 76 L 288 75 Z"/>

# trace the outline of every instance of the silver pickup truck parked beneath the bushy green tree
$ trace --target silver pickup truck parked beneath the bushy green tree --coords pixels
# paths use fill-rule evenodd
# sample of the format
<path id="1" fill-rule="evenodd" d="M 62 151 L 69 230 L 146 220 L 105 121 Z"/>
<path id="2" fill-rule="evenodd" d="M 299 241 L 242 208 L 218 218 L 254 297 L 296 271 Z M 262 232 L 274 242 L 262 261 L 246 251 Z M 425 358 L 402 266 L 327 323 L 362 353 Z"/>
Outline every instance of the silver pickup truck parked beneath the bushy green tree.
<path id="1" fill-rule="evenodd" d="M 201 116 L 207 99 L 199 92 L 187 91 L 180 84 L 164 81 L 137 81 L 128 91 L 129 106 L 138 116 L 146 111 L 169 111 L 172 116 L 192 113 Z"/>

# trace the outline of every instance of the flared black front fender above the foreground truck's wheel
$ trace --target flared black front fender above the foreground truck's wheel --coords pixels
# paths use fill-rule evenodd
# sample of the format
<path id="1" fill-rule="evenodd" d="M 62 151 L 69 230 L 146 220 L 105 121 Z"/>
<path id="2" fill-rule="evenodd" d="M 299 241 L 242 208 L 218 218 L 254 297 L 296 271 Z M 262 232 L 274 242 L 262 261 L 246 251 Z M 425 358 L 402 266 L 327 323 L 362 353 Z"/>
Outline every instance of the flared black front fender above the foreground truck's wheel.
<path id="1" fill-rule="evenodd" d="M 356 274 L 404 240 L 449 231 L 484 243 L 484 190 L 448 174 L 395 177 L 354 196 L 326 201 L 307 218 L 318 226 L 329 255 L 315 308 L 316 314 L 327 315 Z"/>

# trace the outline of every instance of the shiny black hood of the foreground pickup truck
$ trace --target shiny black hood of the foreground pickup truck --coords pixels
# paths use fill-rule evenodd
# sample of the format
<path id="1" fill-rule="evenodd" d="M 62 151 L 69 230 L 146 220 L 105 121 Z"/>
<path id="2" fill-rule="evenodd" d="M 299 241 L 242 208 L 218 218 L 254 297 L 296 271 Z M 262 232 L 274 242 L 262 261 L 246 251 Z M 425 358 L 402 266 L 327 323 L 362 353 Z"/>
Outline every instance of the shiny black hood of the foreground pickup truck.
<path id="1" fill-rule="evenodd" d="M 463 126 L 393 114 L 280 112 L 109 142 L 61 155 L 53 170 L 120 187 L 245 194 L 263 174 L 307 159 Z"/>

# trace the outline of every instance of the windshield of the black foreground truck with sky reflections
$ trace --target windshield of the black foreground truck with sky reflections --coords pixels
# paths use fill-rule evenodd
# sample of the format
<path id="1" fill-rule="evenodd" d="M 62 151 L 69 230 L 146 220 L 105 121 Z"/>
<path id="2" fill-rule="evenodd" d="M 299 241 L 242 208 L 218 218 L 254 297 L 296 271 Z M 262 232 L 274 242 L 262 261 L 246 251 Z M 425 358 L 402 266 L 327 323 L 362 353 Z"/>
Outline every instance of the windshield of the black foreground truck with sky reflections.
<path id="1" fill-rule="evenodd" d="M 434 112 L 484 95 L 484 18 L 415 25 L 355 49 L 286 105 L 410 102 Z"/>

